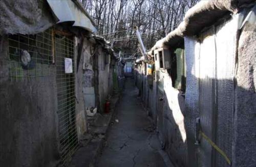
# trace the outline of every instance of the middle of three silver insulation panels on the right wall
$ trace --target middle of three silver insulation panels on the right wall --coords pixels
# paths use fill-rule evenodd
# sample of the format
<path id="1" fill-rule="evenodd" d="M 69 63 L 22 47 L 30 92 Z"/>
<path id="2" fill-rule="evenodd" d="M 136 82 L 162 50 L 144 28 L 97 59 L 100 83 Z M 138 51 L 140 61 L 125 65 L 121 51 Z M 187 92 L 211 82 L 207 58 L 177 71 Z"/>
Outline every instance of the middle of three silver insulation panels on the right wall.
<path id="1" fill-rule="evenodd" d="M 216 76 L 216 48 L 214 29 L 203 33 L 204 40 L 200 47 L 200 81 L 199 81 L 199 115 L 201 130 L 215 142 L 215 76 Z M 199 147 L 201 166 L 211 166 L 212 147 L 202 138 Z"/>

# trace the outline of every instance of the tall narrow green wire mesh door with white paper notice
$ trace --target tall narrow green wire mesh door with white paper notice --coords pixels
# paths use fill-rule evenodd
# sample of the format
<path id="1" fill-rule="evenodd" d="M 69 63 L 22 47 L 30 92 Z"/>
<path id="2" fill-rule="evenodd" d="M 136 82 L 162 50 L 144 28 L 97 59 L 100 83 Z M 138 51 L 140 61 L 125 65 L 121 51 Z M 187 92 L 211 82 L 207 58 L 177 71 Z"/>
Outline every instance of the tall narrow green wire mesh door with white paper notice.
<path id="1" fill-rule="evenodd" d="M 73 40 L 65 36 L 55 35 L 55 64 L 58 94 L 59 140 L 62 163 L 71 159 L 78 148 L 75 122 L 75 76 L 74 76 L 74 45 Z M 66 59 L 72 64 L 67 64 Z M 67 73 L 65 66 L 71 66 L 73 72 Z"/>

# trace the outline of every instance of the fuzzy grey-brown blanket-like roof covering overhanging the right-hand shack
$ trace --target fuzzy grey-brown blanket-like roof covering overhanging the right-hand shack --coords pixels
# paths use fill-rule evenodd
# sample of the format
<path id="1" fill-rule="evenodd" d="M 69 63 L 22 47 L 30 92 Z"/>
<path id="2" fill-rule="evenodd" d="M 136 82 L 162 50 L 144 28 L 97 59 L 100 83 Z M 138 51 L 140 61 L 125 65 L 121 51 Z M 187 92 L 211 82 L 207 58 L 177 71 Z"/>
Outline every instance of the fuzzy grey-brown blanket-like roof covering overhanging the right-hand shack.
<path id="1" fill-rule="evenodd" d="M 157 48 L 180 47 L 184 43 L 184 36 L 193 36 L 199 33 L 204 27 L 215 23 L 218 19 L 228 13 L 237 13 L 242 6 L 251 4 L 252 0 L 238 1 L 201 1 L 193 8 L 190 8 L 174 31 L 170 32 L 165 38 L 156 42 L 148 55 L 153 57 L 153 51 Z"/>

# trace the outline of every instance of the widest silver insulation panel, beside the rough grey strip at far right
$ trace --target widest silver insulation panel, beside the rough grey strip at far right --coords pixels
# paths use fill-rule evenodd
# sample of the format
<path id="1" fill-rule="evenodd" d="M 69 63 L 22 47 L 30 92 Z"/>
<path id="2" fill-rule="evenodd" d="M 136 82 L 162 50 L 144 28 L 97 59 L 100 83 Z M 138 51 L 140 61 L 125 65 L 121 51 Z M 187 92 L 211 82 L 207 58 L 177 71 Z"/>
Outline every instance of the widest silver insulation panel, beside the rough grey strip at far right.
<path id="1" fill-rule="evenodd" d="M 217 27 L 217 125 L 216 144 L 230 160 L 232 156 L 233 77 L 236 57 L 238 20 L 231 19 Z M 223 156 L 216 153 L 217 166 L 229 166 Z"/>

